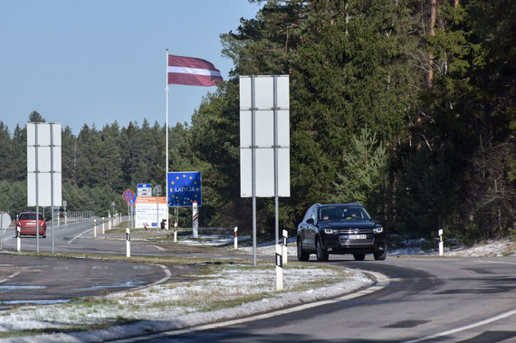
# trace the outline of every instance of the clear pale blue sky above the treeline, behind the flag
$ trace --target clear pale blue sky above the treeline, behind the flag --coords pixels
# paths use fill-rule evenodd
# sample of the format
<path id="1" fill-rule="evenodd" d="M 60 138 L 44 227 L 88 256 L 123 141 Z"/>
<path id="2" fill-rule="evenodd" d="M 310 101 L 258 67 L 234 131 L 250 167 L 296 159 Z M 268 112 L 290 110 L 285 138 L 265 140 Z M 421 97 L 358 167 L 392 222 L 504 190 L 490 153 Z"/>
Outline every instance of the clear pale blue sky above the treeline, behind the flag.
<path id="1" fill-rule="evenodd" d="M 233 62 L 219 34 L 236 31 L 259 5 L 247 0 L 0 0 L 0 121 L 12 133 L 37 110 L 79 134 L 117 121 L 166 120 L 166 49 Z M 169 125 L 190 123 L 215 87 L 170 85 Z"/>

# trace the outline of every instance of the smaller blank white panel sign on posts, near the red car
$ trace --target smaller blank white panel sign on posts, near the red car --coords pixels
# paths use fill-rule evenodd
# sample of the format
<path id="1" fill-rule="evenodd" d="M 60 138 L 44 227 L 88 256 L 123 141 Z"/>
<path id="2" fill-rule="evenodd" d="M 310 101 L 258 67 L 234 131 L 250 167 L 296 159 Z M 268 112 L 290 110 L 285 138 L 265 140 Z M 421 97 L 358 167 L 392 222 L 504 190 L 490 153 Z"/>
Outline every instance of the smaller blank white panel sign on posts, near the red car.
<path id="1" fill-rule="evenodd" d="M 27 205 L 62 205 L 61 147 L 60 123 L 27 123 Z"/>

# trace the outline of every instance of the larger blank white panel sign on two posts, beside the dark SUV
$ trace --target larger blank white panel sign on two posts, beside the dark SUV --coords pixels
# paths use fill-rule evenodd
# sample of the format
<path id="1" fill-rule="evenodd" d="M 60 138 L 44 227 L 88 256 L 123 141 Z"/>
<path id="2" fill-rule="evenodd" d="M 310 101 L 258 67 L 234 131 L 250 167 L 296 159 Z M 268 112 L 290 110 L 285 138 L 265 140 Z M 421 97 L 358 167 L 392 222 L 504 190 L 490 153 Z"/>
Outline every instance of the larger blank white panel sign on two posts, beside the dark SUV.
<path id="1" fill-rule="evenodd" d="M 289 75 L 240 77 L 242 197 L 291 196 L 289 97 Z"/>

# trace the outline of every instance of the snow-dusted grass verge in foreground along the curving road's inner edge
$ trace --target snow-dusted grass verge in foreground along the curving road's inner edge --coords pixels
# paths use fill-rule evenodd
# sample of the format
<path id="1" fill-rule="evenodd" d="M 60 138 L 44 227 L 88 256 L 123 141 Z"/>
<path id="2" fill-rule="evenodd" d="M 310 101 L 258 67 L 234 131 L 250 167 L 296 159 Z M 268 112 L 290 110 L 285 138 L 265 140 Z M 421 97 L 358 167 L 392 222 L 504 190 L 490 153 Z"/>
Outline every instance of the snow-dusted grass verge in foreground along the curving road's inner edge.
<path id="1" fill-rule="evenodd" d="M 276 292 L 275 267 L 235 265 L 231 269 L 199 277 L 196 281 L 164 283 L 140 291 L 110 294 L 84 305 L 72 302 L 48 306 L 27 306 L 5 311 L 0 315 L 0 331 L 24 329 L 70 329 L 77 325 L 117 323 L 117 319 L 136 319 L 136 324 L 71 334 L 12 338 L 6 341 L 103 341 L 137 335 L 181 329 L 223 319 L 234 319 L 286 306 L 339 296 L 372 283 L 359 271 L 320 268 L 319 266 L 289 266 L 284 269 L 284 291 Z M 337 281 L 336 283 L 333 283 Z M 313 282 L 317 290 L 302 291 L 300 286 Z M 329 284 L 329 286 L 321 286 Z M 262 300 L 249 301 L 255 295 Z M 213 301 L 238 303 L 232 309 L 211 310 Z M 242 299 L 242 300 L 239 300 Z M 208 308 L 206 308 L 206 303 Z M 211 304 L 211 305 L 210 305 Z"/>

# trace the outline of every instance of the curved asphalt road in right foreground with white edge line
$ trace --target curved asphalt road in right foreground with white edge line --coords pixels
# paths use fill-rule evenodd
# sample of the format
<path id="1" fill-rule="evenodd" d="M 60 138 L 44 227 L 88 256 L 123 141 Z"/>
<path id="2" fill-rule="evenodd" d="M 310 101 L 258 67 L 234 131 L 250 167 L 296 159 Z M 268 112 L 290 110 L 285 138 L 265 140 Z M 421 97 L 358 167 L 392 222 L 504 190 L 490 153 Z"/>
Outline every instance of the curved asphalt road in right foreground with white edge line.
<path id="1" fill-rule="evenodd" d="M 333 256 L 332 256 L 333 257 Z M 516 257 L 335 261 L 390 282 L 352 300 L 145 342 L 515 342 Z"/>

